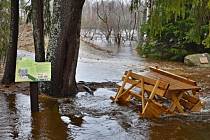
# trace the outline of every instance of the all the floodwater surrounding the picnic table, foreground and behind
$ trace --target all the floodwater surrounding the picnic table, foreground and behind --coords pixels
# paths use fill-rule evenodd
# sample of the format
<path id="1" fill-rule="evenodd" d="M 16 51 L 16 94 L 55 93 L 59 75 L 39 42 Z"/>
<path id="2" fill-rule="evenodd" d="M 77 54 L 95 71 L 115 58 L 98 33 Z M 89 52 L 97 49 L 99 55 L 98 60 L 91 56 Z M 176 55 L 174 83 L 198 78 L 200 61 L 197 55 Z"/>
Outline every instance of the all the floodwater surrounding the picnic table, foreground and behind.
<path id="1" fill-rule="evenodd" d="M 105 48 L 107 49 L 107 48 Z M 22 93 L 0 94 L 0 140 L 208 140 L 210 138 L 210 71 L 182 63 L 145 60 L 130 47 L 109 51 L 81 44 L 77 81 L 119 81 L 124 70 L 145 71 L 150 65 L 187 76 L 202 87 L 204 110 L 190 116 L 159 120 L 139 118 L 136 111 L 112 103 L 113 88 L 99 88 L 93 95 L 75 98 L 40 96 L 40 112 L 30 112 L 30 97 Z M 1 91 L 0 91 L 1 92 Z M 209 94 L 209 95 L 208 95 Z"/>

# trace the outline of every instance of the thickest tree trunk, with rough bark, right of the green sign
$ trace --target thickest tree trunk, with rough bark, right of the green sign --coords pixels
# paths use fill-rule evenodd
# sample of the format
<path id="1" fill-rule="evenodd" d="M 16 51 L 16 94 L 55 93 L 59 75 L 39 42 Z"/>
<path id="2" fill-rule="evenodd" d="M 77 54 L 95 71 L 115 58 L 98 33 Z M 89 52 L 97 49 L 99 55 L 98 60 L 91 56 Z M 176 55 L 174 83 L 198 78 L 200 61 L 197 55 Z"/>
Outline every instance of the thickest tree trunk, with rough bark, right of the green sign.
<path id="1" fill-rule="evenodd" d="M 80 45 L 81 14 L 85 0 L 58 0 L 59 19 L 51 39 L 53 96 L 70 96 L 77 92 L 75 74 Z M 51 36 L 52 37 L 52 36 Z M 53 44 L 53 45 L 52 45 Z M 53 57 L 55 55 L 55 58 Z M 49 59 L 49 58 L 48 58 Z"/>

